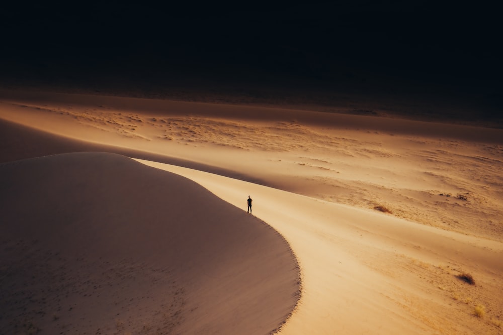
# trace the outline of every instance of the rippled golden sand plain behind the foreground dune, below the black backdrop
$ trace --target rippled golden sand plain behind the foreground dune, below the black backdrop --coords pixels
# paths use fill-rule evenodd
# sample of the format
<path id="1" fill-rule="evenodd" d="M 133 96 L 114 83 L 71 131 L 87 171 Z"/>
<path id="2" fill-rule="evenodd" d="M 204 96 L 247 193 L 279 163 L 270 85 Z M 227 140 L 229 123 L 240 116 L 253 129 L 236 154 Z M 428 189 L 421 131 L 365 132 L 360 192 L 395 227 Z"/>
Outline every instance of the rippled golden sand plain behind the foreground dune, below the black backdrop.
<path id="1" fill-rule="evenodd" d="M 16 94 L 1 100 L 2 118 L 87 145 L 108 145 L 91 150 L 360 208 L 383 205 L 394 215 L 465 234 L 503 234 L 500 129 L 78 94 L 27 93 L 16 100 Z M 71 152 L 66 150 L 58 152 Z M 39 145 L 38 151 L 47 148 Z"/>

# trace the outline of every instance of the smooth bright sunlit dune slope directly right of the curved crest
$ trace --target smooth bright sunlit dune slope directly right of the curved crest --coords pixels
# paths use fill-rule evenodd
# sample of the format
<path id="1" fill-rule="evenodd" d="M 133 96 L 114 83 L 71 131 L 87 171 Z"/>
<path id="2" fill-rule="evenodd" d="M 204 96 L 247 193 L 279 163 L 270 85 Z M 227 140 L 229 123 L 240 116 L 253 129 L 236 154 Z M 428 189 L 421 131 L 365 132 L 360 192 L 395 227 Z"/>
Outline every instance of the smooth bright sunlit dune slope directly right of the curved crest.
<path id="1" fill-rule="evenodd" d="M 456 279 L 462 269 L 474 269 L 489 296 L 499 290 L 495 283 L 503 274 L 501 242 L 207 172 L 139 161 L 191 178 L 236 206 L 245 206 L 239 195 L 249 190 L 254 214 L 289 241 L 302 271 L 302 298 L 281 334 L 483 329 L 480 322 L 459 319 L 464 310 L 445 314 L 440 306 L 452 301 L 450 290 L 474 296 L 482 292 Z M 435 282 L 442 288 L 432 286 Z M 432 294 L 433 287 L 446 294 Z M 497 299 L 493 303 L 499 308 Z"/>

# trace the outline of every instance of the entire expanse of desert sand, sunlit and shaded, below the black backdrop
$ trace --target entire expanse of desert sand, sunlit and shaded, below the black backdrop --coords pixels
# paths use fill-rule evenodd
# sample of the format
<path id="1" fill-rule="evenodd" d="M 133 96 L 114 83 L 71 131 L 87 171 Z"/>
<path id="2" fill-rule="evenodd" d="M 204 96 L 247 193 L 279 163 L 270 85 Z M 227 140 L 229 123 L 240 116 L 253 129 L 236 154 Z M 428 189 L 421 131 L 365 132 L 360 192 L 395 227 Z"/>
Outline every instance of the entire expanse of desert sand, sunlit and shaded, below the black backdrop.
<path id="1" fill-rule="evenodd" d="M 503 331 L 501 129 L 1 93 L 2 314 L 19 331 Z"/>

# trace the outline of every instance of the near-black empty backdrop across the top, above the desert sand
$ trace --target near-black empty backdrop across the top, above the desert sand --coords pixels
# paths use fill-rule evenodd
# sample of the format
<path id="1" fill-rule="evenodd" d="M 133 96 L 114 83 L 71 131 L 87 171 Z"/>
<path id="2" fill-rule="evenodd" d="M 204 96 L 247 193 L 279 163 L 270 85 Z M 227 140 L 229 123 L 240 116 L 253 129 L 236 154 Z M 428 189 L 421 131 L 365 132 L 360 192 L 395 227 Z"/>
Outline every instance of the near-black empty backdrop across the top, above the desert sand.
<path id="1" fill-rule="evenodd" d="M 501 20 L 475 2 L 169 3 L 3 5 L 0 74 L 501 88 Z"/>

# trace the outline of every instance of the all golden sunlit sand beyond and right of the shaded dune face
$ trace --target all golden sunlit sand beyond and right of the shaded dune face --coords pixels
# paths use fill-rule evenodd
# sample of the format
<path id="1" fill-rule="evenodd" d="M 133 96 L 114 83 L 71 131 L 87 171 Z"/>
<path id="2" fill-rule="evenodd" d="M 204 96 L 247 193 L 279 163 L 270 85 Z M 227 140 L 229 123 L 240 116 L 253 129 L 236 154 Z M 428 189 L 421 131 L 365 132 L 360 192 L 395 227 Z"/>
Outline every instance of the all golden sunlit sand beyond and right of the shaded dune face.
<path id="1" fill-rule="evenodd" d="M 281 333 L 501 332 L 502 130 L 77 94 L 2 96 L 0 126 L 30 138 L 4 135 L 9 157 L 100 146 L 189 177 L 242 209 L 250 194 L 254 215 L 288 241 L 300 265 L 302 295 Z"/>

